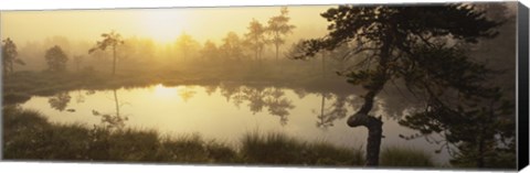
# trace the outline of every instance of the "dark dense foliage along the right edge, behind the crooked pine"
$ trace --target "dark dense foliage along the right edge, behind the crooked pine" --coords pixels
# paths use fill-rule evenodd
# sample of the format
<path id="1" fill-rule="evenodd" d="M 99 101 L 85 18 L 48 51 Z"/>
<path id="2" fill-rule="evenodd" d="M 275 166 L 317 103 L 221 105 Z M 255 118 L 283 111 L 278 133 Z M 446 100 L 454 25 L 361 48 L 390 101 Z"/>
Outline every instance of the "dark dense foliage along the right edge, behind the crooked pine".
<path id="1" fill-rule="evenodd" d="M 475 55 L 475 60 L 486 58 L 488 61 L 487 58 L 494 57 L 495 60 L 510 55 L 510 52 L 515 51 L 513 46 L 509 46 L 509 44 L 512 44 L 512 36 L 515 35 L 515 28 L 510 25 L 515 24 L 510 24 L 511 21 L 506 15 L 506 7 L 501 3 L 481 3 L 478 8 L 488 11 L 485 14 L 486 18 L 504 22 L 504 25 L 498 29 L 501 33 L 495 40 L 484 41 L 478 45 L 463 44 L 462 47 L 471 50 L 470 53 L 473 54 L 470 56 Z M 499 42 L 508 45 L 499 45 Z M 447 57 L 453 56 L 445 55 L 445 58 Z M 510 64 L 509 60 L 498 60 L 508 62 L 494 62 L 497 64 L 490 65 L 489 68 L 505 72 L 506 65 Z M 420 131 L 414 137 L 403 138 L 425 137 L 430 139 L 432 134 L 438 133 L 442 134 L 442 139 L 431 138 L 430 141 L 441 144 L 441 149 L 445 148 L 454 156 L 451 160 L 453 165 L 513 169 L 516 166 L 516 163 L 512 162 L 516 160 L 516 116 L 513 112 L 515 105 L 510 100 L 513 99 L 511 91 L 513 91 L 515 82 L 506 78 L 510 74 L 497 73 L 477 64 L 460 63 L 444 69 L 441 69 L 444 66 L 439 66 L 436 61 L 432 61 L 432 64 L 431 71 L 454 71 L 453 83 L 471 85 L 460 85 L 463 89 L 452 91 L 452 97 L 447 97 L 446 94 L 445 100 L 442 97 L 438 100 L 432 99 L 424 110 L 416 111 L 401 120 L 402 126 Z M 439 67 L 436 68 L 435 66 Z M 465 71 L 458 71 L 458 68 L 470 68 L 477 73 L 484 72 L 481 72 L 483 75 L 471 76 Z M 485 74 L 495 74 L 495 76 Z M 462 80 L 462 78 L 466 79 Z M 441 150 L 436 152 L 441 152 Z"/>

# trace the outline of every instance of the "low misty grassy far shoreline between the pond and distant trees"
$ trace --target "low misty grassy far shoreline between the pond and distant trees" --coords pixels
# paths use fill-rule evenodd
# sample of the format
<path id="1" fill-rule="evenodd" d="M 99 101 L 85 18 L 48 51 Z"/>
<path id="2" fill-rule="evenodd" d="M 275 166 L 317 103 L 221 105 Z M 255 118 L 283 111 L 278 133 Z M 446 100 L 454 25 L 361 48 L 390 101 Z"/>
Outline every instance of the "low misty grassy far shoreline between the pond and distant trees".
<path id="1" fill-rule="evenodd" d="M 132 75 L 136 74 L 136 75 Z M 166 77 L 161 77 L 166 76 Z M 158 72 L 158 73 L 118 73 L 115 77 L 103 72 L 65 72 L 54 74 L 50 72 L 17 72 L 3 78 L 3 105 L 21 104 L 32 96 L 53 96 L 63 91 L 77 89 L 106 90 L 118 88 L 148 87 L 157 84 L 165 86 L 178 85 L 216 85 L 231 83 L 247 86 L 275 86 L 304 88 L 310 93 L 336 91 L 352 93 L 354 87 L 343 78 L 332 76 L 320 78 L 305 76 L 286 78 L 277 74 L 237 74 L 226 76 L 210 76 L 191 72 Z"/>

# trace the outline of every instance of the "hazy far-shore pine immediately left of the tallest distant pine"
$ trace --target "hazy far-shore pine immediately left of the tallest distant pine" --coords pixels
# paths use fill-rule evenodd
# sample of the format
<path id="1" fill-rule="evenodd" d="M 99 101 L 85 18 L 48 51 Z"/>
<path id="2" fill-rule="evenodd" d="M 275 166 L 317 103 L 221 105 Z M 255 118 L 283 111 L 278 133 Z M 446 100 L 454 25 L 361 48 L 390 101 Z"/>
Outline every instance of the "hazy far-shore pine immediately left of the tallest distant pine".
<path id="1" fill-rule="evenodd" d="M 266 28 L 263 26 L 257 20 L 252 19 L 248 25 L 248 32 L 245 34 L 245 42 L 248 47 L 254 52 L 254 60 L 261 61 L 263 48 L 267 44 L 265 37 Z"/>

